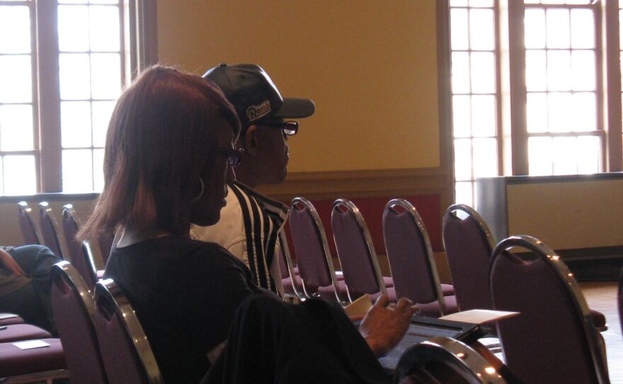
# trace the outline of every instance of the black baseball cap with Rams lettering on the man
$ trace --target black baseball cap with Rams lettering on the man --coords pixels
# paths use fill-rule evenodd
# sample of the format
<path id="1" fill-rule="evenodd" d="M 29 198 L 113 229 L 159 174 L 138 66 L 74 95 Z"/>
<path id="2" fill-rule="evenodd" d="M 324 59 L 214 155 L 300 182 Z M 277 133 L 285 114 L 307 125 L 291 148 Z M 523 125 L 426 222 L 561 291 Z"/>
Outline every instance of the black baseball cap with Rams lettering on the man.
<path id="1" fill-rule="evenodd" d="M 234 106 L 244 128 L 270 118 L 307 118 L 314 101 L 282 97 L 268 74 L 256 64 L 219 64 L 203 75 L 214 81 Z"/>

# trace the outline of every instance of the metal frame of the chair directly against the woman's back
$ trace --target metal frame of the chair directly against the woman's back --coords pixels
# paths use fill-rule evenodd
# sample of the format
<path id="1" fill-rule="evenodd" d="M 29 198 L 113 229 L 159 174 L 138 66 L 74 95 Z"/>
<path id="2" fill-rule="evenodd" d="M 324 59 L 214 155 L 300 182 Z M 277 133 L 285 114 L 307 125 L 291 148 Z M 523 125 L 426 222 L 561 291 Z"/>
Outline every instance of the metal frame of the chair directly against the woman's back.
<path id="1" fill-rule="evenodd" d="M 135 351 L 144 368 L 145 377 L 150 384 L 163 384 L 164 379 L 156 363 L 156 358 L 149 345 L 147 336 L 143 331 L 132 305 L 122 293 L 121 288 L 115 284 L 113 279 L 107 278 L 100 280 L 95 286 L 96 310 L 101 305 L 108 307 L 106 310 L 113 310 L 120 319 L 123 320 L 127 337 L 132 340 Z M 96 329 L 97 330 L 97 329 Z"/>

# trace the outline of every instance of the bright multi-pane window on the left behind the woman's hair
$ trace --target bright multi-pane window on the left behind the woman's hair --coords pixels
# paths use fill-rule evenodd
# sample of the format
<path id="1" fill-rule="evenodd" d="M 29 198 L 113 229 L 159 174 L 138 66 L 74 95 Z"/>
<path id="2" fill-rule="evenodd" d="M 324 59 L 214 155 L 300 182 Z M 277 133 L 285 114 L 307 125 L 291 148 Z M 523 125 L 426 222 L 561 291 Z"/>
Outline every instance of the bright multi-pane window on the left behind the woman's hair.
<path id="1" fill-rule="evenodd" d="M 0 0 L 0 195 L 101 191 L 110 113 L 147 62 L 144 26 L 130 22 L 144 9 Z"/>

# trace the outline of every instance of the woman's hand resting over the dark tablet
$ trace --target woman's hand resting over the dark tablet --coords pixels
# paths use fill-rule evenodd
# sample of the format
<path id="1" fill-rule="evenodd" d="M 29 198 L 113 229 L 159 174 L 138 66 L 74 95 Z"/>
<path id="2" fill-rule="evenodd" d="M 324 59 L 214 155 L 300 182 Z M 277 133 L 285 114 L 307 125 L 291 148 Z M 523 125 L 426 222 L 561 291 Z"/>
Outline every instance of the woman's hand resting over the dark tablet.
<path id="1" fill-rule="evenodd" d="M 359 332 L 375 356 L 387 354 L 400 342 L 417 309 L 406 298 L 401 298 L 397 304 L 389 303 L 386 295 L 377 299 L 359 326 Z"/>

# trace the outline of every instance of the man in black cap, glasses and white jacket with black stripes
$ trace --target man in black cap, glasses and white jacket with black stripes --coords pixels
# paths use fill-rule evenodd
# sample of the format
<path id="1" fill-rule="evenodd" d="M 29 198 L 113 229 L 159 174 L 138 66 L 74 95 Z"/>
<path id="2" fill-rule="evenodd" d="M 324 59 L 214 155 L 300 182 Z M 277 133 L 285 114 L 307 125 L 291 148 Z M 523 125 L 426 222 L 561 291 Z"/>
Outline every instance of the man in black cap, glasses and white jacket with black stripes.
<path id="1" fill-rule="evenodd" d="M 244 154 L 236 166 L 236 180 L 228 183 L 227 205 L 219 222 L 194 226 L 191 233 L 221 244 L 244 261 L 258 286 L 282 293 L 278 233 L 288 208 L 253 188 L 285 179 L 287 140 L 299 128 L 291 119 L 311 116 L 314 102 L 282 97 L 268 74 L 255 64 L 220 64 L 203 77 L 219 86 L 238 113 L 242 131 L 236 145 Z"/>

